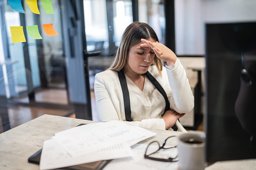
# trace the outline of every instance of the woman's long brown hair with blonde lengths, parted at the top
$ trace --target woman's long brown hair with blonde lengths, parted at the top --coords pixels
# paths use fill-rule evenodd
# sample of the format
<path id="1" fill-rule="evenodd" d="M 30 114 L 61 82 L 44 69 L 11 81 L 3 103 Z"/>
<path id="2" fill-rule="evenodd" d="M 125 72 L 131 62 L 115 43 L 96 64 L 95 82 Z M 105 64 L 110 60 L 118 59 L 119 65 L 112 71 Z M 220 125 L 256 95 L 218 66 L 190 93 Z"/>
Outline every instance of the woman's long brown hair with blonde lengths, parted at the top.
<path id="1" fill-rule="evenodd" d="M 117 54 L 115 55 L 115 60 L 109 70 L 122 70 L 127 63 L 129 49 L 140 44 L 141 39 L 149 40 L 150 38 L 159 42 L 154 30 L 148 24 L 140 22 L 133 22 L 130 24 L 123 33 L 120 46 L 118 47 Z M 152 65 L 156 65 L 156 68 L 161 75 L 161 60 L 155 56 Z"/>

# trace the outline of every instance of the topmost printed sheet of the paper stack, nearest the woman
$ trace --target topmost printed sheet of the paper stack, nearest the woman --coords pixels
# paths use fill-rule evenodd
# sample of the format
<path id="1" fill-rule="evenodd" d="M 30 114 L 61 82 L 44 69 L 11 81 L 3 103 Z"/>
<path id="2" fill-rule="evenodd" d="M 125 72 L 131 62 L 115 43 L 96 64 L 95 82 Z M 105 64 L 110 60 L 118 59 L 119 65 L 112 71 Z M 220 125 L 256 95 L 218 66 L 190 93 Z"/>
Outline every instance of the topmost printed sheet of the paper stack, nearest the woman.
<path id="1" fill-rule="evenodd" d="M 145 133 L 147 131 L 147 133 Z M 52 138 L 72 157 L 81 156 L 104 148 L 111 143 L 144 140 L 156 133 L 143 128 L 134 128 L 122 121 L 109 121 L 77 126 L 59 133 Z M 136 141 L 139 142 L 139 141 Z"/>

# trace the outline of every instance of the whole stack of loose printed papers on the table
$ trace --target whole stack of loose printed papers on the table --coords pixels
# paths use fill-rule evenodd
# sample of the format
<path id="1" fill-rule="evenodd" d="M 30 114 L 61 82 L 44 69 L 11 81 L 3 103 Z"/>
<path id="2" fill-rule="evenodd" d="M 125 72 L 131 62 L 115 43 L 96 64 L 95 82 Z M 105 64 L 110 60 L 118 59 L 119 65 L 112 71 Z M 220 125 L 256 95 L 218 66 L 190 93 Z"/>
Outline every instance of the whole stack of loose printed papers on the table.
<path id="1" fill-rule="evenodd" d="M 155 134 L 122 121 L 77 126 L 44 142 L 40 169 L 133 156 L 131 146 Z"/>

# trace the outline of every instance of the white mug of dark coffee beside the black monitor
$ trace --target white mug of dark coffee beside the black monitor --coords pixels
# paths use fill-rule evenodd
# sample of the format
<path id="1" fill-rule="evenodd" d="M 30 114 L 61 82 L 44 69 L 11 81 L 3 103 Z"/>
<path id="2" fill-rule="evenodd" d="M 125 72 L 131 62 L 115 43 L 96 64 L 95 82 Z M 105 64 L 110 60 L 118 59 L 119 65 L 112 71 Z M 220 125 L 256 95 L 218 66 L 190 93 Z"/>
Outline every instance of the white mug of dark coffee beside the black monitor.
<path id="1" fill-rule="evenodd" d="M 178 137 L 179 166 L 182 170 L 205 168 L 205 133 L 183 133 Z"/>

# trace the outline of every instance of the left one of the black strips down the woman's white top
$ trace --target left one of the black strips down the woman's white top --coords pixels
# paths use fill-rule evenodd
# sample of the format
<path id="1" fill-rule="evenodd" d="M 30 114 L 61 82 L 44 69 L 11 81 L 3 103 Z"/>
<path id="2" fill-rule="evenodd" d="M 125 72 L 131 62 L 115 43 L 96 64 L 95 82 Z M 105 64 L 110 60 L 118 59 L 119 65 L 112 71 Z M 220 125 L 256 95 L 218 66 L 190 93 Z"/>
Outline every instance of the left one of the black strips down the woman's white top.
<path id="1" fill-rule="evenodd" d="M 132 121 L 130 95 L 129 95 L 129 90 L 127 87 L 127 82 L 126 82 L 126 78 L 124 75 L 124 71 L 120 70 L 117 72 L 117 74 L 118 74 L 119 81 L 120 81 L 122 91 L 123 91 L 125 119 L 126 119 L 126 121 Z"/>

